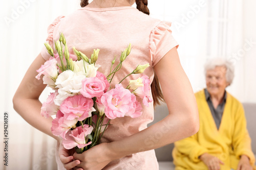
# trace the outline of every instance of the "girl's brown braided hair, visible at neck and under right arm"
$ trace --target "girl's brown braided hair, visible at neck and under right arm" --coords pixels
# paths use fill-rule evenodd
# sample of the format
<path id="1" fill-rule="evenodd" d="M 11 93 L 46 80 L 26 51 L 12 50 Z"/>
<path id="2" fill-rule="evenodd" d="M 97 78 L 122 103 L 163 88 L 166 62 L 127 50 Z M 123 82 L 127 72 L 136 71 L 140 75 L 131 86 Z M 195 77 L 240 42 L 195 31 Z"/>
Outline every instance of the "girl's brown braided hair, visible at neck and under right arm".
<path id="1" fill-rule="evenodd" d="M 147 15 L 150 15 L 150 10 L 148 10 L 147 8 L 147 0 L 136 0 L 136 5 L 137 5 L 137 9 Z M 81 7 L 85 7 L 89 4 L 88 0 L 81 0 Z M 156 105 L 160 105 L 162 102 L 164 101 L 164 97 L 163 97 L 163 92 L 161 90 L 160 87 L 160 83 L 158 80 L 158 77 L 156 75 L 156 72 L 154 71 L 154 79 L 153 82 L 151 84 L 151 89 L 152 89 L 152 96 L 153 96 L 153 101 L 154 101 L 154 107 Z"/>

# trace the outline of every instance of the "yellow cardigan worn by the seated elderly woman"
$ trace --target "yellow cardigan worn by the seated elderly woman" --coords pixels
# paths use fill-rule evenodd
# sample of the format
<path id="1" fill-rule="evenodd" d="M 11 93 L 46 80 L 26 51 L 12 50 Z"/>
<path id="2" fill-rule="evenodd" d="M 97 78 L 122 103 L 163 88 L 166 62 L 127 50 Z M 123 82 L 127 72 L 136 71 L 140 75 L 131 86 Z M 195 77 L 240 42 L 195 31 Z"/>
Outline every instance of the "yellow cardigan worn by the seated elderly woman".
<path id="1" fill-rule="evenodd" d="M 247 155 L 250 163 L 254 165 L 255 158 L 251 151 L 251 139 L 246 129 L 242 104 L 227 93 L 218 130 L 205 99 L 204 90 L 195 95 L 200 129 L 197 134 L 175 142 L 173 150 L 175 169 L 207 169 L 207 166 L 198 158 L 203 153 L 209 153 L 222 160 L 224 165 L 221 165 L 221 170 L 237 169 L 241 155 Z"/>

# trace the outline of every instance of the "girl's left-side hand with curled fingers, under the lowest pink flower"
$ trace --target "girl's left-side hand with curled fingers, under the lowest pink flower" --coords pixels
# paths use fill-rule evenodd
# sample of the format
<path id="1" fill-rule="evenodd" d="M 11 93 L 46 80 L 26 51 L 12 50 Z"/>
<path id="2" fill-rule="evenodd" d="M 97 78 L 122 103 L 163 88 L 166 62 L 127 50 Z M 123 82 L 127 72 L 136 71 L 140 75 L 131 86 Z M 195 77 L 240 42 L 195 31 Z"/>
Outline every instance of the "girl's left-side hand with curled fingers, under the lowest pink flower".
<path id="1" fill-rule="evenodd" d="M 74 156 L 72 156 L 75 153 L 75 149 L 67 150 L 63 147 L 62 142 L 58 142 L 59 144 L 59 158 L 62 162 L 63 166 L 70 170 L 70 169 L 78 169 L 83 170 L 82 168 L 76 168 L 75 166 L 80 164 L 79 160 L 74 160 Z"/>

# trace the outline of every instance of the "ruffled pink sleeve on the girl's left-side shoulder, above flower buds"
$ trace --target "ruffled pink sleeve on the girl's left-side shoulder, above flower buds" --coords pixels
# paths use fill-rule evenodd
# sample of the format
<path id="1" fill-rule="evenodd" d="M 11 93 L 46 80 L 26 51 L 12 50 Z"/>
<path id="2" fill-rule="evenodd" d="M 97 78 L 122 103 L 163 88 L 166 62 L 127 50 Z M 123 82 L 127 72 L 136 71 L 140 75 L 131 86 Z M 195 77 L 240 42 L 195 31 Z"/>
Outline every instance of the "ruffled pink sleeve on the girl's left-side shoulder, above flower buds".
<path id="1" fill-rule="evenodd" d="M 51 45 L 52 48 L 53 48 L 53 31 L 54 31 L 56 25 L 59 23 L 60 19 L 63 17 L 65 17 L 65 16 L 59 16 L 56 19 L 54 19 L 54 21 L 51 23 L 51 25 L 47 29 L 48 37 L 46 38 L 46 41 Z M 49 60 L 49 58 L 51 57 L 49 55 L 45 45 L 42 47 L 41 56 L 45 60 Z"/>

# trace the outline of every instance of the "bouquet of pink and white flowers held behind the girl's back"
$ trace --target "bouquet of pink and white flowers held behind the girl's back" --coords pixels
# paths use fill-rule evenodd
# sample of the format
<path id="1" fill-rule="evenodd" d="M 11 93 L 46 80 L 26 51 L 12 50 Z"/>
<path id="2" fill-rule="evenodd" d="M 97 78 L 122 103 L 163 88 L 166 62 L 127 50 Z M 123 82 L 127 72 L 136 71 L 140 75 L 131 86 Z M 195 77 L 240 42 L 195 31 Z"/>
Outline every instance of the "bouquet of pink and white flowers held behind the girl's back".
<path id="1" fill-rule="evenodd" d="M 42 104 L 41 115 L 48 118 L 56 114 L 51 130 L 55 136 L 62 138 L 66 149 L 75 148 L 77 153 L 82 153 L 99 144 L 111 119 L 139 117 L 142 106 L 137 97 L 143 99 L 145 106 L 152 102 L 147 76 L 131 80 L 126 88 L 120 84 L 132 74 L 141 74 L 149 66 L 148 63 L 138 65 L 114 88 L 110 86 L 114 75 L 130 54 L 131 44 L 121 53 L 119 64 L 112 69 L 116 60 L 114 58 L 110 74 L 106 76 L 97 71 L 100 67 L 96 63 L 99 49 L 94 50 L 90 59 L 75 47 L 71 54 L 62 33 L 59 40 L 55 41 L 57 54 L 54 54 L 48 43 L 45 46 L 51 58 L 36 70 L 36 78 L 39 80 L 44 75 L 44 84 L 55 92 L 50 93 L 47 101 Z"/>

